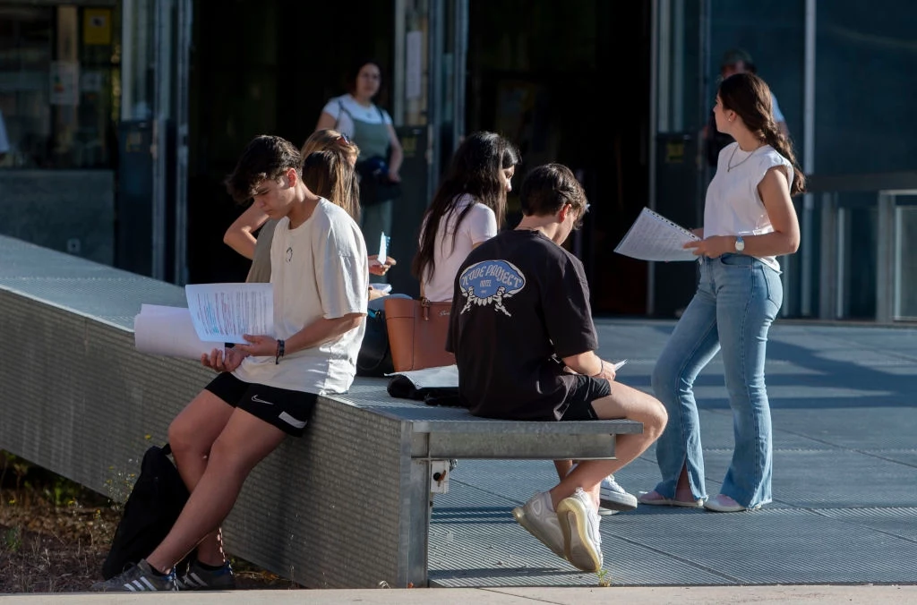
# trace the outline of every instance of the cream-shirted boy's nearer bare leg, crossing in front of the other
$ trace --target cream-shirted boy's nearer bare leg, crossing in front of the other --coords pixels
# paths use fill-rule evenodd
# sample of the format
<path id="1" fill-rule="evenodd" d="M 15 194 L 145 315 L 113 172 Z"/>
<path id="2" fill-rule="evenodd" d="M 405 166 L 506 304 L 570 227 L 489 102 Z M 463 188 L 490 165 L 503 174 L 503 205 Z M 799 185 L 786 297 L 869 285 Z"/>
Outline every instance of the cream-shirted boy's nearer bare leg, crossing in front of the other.
<path id="1" fill-rule="evenodd" d="M 195 545 L 214 532 L 232 510 L 242 483 L 286 436 L 282 430 L 244 410 L 235 410 L 210 450 L 204 475 L 171 532 L 148 557 L 149 565 L 168 572 Z"/>

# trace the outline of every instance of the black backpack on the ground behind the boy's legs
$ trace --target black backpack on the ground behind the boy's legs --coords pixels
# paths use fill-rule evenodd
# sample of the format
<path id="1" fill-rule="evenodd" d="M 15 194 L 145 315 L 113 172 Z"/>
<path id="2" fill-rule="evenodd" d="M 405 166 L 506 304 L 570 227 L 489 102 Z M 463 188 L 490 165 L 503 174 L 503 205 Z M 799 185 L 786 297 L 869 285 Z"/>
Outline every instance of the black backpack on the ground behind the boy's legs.
<path id="1" fill-rule="evenodd" d="M 151 446 L 143 455 L 140 475 L 124 505 L 111 548 L 102 566 L 105 579 L 114 578 L 130 564 L 149 556 L 169 534 L 188 501 L 178 469 L 169 455 L 171 447 Z M 186 564 L 186 561 L 182 562 Z"/>

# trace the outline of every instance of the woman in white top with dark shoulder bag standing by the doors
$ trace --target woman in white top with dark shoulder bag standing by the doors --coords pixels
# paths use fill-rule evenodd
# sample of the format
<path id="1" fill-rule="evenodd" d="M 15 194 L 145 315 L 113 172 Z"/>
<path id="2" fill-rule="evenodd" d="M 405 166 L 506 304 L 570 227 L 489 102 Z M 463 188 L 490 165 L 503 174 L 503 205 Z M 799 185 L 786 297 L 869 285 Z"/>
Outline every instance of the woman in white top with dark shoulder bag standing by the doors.
<path id="1" fill-rule="evenodd" d="M 334 128 L 359 147 L 359 225 L 370 249 L 379 246 L 381 234 L 392 234 L 403 160 L 392 116 L 372 102 L 380 91 L 381 79 L 379 61 L 358 60 L 347 73 L 348 92 L 330 99 L 315 125 L 316 130 Z"/>

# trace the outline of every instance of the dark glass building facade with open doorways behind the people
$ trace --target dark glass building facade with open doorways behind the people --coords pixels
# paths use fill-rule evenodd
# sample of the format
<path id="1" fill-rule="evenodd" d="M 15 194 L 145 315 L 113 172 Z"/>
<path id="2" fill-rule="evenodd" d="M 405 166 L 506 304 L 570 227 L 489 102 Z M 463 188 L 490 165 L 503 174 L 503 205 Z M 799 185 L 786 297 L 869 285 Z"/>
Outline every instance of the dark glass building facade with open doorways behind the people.
<path id="1" fill-rule="evenodd" d="M 917 320 L 917 6 L 903 0 L 0 0 L 0 232 L 177 283 L 239 281 L 223 190 L 262 133 L 302 143 L 360 57 L 405 149 L 391 281 L 465 133 L 568 164 L 596 314 L 673 317 L 691 263 L 613 252 L 644 206 L 698 225 L 720 57 L 754 57 L 812 192 L 787 317 Z M 510 200 L 511 222 L 518 204 Z M 0 259 L 2 262 L 2 259 Z"/>

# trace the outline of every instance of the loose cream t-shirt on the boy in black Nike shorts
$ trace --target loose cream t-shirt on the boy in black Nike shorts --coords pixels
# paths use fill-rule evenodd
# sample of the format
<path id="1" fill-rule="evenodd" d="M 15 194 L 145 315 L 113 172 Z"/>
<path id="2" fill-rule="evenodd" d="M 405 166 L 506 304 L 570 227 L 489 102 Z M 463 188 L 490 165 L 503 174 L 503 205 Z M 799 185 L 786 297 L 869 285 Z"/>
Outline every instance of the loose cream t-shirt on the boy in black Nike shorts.
<path id="1" fill-rule="evenodd" d="M 345 210 L 322 199 L 295 229 L 282 218 L 271 242 L 274 332 L 289 338 L 319 318 L 366 313 L 369 293 L 366 244 Z M 357 373 L 357 354 L 366 322 L 337 340 L 290 353 L 279 364 L 249 357 L 234 372 L 239 380 L 279 389 L 342 393 Z"/>

